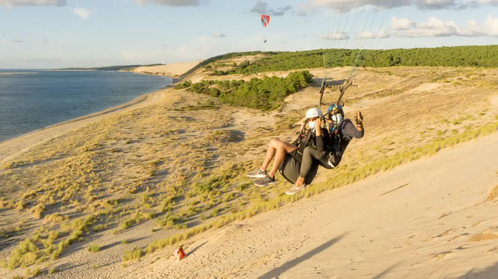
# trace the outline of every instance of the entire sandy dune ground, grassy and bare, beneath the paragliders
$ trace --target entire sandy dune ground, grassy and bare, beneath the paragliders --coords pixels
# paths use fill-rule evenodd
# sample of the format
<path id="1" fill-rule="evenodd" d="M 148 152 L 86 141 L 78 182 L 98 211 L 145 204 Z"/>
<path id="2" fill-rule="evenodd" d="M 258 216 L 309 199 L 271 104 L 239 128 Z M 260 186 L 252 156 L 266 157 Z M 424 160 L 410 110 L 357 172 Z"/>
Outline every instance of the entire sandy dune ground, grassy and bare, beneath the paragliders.
<path id="1" fill-rule="evenodd" d="M 157 73 L 179 76 L 199 62 Z M 472 84 L 497 70 L 461 85 L 452 81 L 478 70 L 441 67 L 449 82 L 434 82 L 432 68 L 359 69 L 345 111 L 362 110 L 365 138 L 337 170 L 320 169 L 303 196 L 285 199 L 280 175 L 256 187 L 245 173 L 271 138 L 292 141 L 293 125 L 318 102 L 325 70 L 309 70 L 316 82 L 277 111 L 168 88 L 0 143 L 0 260 L 31 239 L 48 251 L 28 267 L 40 269 L 37 278 L 498 277 L 498 93 Z M 348 69 L 330 71 L 339 80 Z M 199 69 L 185 79 L 211 77 Z M 396 157 L 405 153 L 413 160 Z M 226 216 L 238 217 L 188 233 Z M 154 246 L 185 234 L 174 243 L 185 247 L 181 262 L 170 257 L 173 244 Z M 138 256 L 125 261 L 130 251 Z M 0 278 L 28 268 L 0 269 Z"/>

